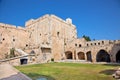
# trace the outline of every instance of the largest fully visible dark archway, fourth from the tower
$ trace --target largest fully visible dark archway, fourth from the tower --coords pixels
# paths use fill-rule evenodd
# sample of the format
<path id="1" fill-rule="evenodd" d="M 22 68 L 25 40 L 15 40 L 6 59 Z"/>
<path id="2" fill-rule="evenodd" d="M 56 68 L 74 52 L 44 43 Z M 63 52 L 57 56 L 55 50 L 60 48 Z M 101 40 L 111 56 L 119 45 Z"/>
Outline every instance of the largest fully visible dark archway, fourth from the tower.
<path id="1" fill-rule="evenodd" d="M 100 50 L 96 55 L 97 62 L 110 62 L 110 55 L 105 50 Z"/>

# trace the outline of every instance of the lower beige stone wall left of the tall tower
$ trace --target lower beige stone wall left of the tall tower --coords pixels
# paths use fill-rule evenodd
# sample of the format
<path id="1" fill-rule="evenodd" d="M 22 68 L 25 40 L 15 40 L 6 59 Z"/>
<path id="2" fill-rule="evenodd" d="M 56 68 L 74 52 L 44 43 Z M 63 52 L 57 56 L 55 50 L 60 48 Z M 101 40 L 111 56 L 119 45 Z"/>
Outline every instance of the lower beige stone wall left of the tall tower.
<path id="1" fill-rule="evenodd" d="M 0 59 L 9 54 L 11 48 L 23 48 L 27 43 L 28 33 L 22 27 L 0 23 Z"/>

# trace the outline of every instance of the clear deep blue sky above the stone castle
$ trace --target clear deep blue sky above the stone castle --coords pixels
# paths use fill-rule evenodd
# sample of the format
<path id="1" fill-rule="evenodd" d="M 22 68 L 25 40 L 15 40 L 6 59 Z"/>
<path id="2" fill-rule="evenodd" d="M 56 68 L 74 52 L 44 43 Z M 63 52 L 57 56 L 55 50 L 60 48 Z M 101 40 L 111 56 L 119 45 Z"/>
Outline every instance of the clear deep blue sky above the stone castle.
<path id="1" fill-rule="evenodd" d="M 0 0 L 0 22 L 24 26 L 45 14 L 70 17 L 78 37 L 120 40 L 120 0 Z"/>

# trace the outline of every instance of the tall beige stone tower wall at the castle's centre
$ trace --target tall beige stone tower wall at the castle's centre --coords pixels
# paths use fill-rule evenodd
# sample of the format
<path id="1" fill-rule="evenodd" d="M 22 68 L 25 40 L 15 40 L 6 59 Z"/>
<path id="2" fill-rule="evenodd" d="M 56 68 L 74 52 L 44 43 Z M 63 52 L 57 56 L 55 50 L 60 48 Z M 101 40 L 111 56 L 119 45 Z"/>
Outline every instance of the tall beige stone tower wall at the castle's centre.
<path id="1" fill-rule="evenodd" d="M 45 15 L 26 22 L 30 34 L 30 45 L 47 45 L 52 49 L 51 58 L 60 60 L 64 56 L 64 44 L 76 39 L 76 27 L 55 15 Z"/>

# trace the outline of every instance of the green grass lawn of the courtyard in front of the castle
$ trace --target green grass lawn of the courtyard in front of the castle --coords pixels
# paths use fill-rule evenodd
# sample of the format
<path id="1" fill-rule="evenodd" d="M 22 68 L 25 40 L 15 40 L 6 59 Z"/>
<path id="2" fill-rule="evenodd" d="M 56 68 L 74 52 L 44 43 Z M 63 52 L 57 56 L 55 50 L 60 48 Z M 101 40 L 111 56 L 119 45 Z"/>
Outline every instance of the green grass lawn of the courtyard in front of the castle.
<path id="1" fill-rule="evenodd" d="M 120 64 L 45 63 L 16 66 L 33 80 L 114 80 L 112 74 Z M 41 79 L 40 79 L 41 80 Z"/>

